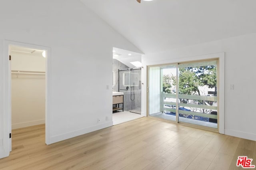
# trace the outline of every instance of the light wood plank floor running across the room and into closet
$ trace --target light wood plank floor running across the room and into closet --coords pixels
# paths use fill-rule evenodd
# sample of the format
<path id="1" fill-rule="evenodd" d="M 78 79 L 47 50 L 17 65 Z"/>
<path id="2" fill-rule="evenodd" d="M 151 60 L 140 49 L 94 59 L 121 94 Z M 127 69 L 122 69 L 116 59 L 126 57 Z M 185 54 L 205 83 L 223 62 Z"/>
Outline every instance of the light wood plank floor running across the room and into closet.
<path id="1" fill-rule="evenodd" d="M 12 132 L 0 169 L 235 170 L 256 142 L 144 117 L 47 146 L 44 125 Z"/>

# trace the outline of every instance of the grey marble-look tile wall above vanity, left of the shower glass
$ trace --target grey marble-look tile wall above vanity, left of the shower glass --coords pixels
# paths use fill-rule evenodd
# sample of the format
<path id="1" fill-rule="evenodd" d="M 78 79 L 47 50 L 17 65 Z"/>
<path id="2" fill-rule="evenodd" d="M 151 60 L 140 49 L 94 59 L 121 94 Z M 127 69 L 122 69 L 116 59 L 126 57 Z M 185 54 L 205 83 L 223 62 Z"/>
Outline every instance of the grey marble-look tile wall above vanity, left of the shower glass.
<path id="1" fill-rule="evenodd" d="M 113 59 L 113 71 L 114 71 L 114 86 L 113 91 L 118 91 L 118 69 L 128 69 L 126 65 L 118 61 L 117 59 Z"/>

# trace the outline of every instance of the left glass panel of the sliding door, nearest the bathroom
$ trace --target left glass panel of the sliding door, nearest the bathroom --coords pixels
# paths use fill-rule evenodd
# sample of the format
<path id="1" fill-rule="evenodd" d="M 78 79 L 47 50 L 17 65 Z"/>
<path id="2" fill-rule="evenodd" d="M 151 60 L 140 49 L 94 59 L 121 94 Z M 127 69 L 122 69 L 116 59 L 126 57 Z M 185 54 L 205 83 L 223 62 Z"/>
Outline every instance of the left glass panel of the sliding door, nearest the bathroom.
<path id="1" fill-rule="evenodd" d="M 149 115 L 176 121 L 176 65 L 149 67 Z"/>

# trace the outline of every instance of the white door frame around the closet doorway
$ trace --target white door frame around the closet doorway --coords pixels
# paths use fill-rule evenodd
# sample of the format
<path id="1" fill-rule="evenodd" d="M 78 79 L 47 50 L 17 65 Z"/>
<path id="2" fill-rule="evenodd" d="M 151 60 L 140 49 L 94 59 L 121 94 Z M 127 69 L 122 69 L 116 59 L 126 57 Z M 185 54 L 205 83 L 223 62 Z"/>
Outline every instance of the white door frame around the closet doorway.
<path id="1" fill-rule="evenodd" d="M 45 143 L 50 144 L 51 136 L 51 48 L 34 45 L 29 43 L 14 42 L 10 40 L 4 40 L 4 131 L 3 131 L 3 146 L 4 157 L 9 156 L 12 150 L 12 138 L 9 135 L 12 131 L 12 117 L 11 117 L 11 67 L 9 60 L 9 48 L 10 45 L 34 48 L 46 51 L 46 73 L 45 73 Z"/>

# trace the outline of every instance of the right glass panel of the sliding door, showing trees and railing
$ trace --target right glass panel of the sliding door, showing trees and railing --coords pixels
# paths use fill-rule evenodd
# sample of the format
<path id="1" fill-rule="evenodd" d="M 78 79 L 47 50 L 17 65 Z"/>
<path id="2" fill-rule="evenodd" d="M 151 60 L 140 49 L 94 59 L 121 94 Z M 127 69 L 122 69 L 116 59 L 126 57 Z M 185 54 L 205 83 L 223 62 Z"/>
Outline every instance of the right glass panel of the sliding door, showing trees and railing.
<path id="1" fill-rule="evenodd" d="M 179 122 L 218 128 L 217 61 L 178 65 Z"/>

